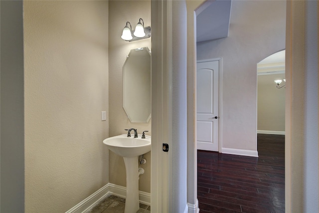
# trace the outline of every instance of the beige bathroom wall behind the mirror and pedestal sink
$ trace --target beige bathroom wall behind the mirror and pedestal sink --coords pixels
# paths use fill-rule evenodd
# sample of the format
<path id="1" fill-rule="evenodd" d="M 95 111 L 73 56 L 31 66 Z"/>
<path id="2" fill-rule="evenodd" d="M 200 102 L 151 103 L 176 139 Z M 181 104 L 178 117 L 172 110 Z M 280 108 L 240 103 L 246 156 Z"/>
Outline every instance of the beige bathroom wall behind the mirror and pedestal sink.
<path id="1" fill-rule="evenodd" d="M 151 135 L 151 121 L 149 123 L 131 123 L 123 109 L 122 95 L 122 67 L 126 56 L 131 49 L 138 47 L 149 47 L 151 49 L 151 38 L 127 42 L 121 38 L 122 30 L 127 21 L 135 29 L 139 18 L 143 18 L 145 26 L 151 26 L 151 1 L 117 1 L 109 2 L 109 134 L 116 136 L 125 134 L 124 129 L 135 128 L 142 134 L 149 130 Z M 126 172 L 122 157 L 109 153 L 109 181 L 112 184 L 126 186 Z M 144 175 L 140 176 L 140 190 L 151 192 L 151 152 L 144 155 L 147 163 L 141 165 L 144 168 Z"/>

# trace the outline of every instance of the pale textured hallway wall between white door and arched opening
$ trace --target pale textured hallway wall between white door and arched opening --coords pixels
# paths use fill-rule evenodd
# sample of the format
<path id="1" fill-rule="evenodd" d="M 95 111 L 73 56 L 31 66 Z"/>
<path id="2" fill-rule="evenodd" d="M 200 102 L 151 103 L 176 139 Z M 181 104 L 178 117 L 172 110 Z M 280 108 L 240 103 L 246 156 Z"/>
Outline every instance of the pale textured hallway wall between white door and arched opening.
<path id="1" fill-rule="evenodd" d="M 222 146 L 257 150 L 257 63 L 285 49 L 286 1 L 233 1 L 227 38 L 197 44 L 197 60 L 222 57 Z"/>

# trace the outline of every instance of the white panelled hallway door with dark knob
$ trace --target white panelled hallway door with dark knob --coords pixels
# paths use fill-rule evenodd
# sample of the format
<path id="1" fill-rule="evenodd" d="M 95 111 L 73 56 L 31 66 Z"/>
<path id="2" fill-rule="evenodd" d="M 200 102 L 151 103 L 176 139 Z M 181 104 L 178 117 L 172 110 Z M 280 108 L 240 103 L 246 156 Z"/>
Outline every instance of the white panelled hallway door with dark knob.
<path id="1" fill-rule="evenodd" d="M 219 63 L 197 62 L 197 149 L 218 152 Z"/>

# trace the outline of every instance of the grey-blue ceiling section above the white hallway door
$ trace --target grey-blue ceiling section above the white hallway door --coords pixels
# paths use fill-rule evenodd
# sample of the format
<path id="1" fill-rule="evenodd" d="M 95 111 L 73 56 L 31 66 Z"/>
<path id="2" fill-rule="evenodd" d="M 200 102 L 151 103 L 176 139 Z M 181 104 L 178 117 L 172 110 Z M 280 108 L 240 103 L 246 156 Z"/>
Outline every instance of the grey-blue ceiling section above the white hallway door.
<path id="1" fill-rule="evenodd" d="M 196 10 L 197 42 L 228 36 L 231 0 L 207 0 Z"/>

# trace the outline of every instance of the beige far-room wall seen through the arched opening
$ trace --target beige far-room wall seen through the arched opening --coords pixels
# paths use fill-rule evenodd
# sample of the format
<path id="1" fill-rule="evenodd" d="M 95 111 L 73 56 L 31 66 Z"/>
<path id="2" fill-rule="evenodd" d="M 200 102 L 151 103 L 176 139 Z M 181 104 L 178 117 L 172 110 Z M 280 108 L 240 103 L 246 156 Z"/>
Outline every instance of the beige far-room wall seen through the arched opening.
<path id="1" fill-rule="evenodd" d="M 258 75 L 257 130 L 285 131 L 286 89 L 276 87 L 274 80 L 279 79 L 285 74 Z"/>

